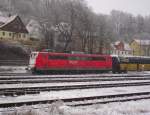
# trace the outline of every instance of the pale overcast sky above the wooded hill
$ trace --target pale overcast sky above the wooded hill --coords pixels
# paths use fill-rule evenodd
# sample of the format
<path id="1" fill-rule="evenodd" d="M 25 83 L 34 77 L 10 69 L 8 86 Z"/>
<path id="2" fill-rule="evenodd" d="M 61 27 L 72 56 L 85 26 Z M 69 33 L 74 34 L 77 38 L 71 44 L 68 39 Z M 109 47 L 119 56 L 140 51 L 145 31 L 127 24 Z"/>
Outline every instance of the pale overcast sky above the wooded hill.
<path id="1" fill-rule="evenodd" d="M 121 10 L 134 15 L 150 15 L 150 0 L 86 0 L 96 12 L 109 14 L 112 9 Z"/>

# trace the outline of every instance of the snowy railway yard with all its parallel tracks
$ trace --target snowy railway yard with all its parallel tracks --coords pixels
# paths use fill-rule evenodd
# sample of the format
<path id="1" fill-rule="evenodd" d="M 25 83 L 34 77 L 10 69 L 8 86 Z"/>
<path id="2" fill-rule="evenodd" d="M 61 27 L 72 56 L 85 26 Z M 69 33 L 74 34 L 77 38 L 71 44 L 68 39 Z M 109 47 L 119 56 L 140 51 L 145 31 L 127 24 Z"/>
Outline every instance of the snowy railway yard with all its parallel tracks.
<path id="1" fill-rule="evenodd" d="M 93 105 L 147 102 L 149 88 L 149 72 L 82 75 L 0 72 L 0 113 L 10 114 L 24 107 L 26 111 L 47 110 L 57 103 L 85 109 Z"/>

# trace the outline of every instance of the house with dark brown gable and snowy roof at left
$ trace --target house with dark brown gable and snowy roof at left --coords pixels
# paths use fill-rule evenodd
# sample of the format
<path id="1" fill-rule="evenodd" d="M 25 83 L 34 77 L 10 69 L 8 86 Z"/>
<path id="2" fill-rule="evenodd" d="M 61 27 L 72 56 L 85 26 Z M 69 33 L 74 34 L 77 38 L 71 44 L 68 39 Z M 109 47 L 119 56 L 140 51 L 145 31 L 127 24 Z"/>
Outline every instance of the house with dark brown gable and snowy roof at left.
<path id="1" fill-rule="evenodd" d="M 0 16 L 0 40 L 28 40 L 28 30 L 18 15 L 7 17 Z"/>

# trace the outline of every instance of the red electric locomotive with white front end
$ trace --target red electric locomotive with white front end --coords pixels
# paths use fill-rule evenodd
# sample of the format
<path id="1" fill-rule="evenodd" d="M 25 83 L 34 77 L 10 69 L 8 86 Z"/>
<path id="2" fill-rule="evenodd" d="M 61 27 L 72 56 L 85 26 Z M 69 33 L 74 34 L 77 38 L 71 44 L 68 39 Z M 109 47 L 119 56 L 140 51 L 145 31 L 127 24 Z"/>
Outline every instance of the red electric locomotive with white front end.
<path id="1" fill-rule="evenodd" d="M 29 69 L 33 72 L 106 72 L 112 70 L 110 55 L 33 52 Z"/>

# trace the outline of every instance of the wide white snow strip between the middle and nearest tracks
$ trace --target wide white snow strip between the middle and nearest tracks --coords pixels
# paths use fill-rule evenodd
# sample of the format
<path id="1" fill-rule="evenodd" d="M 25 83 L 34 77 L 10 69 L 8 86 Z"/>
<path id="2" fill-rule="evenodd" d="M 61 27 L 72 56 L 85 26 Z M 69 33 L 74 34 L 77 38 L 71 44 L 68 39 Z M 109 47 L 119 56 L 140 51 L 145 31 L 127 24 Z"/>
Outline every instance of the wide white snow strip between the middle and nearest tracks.
<path id="1" fill-rule="evenodd" d="M 77 89 L 67 91 L 41 92 L 40 94 L 23 95 L 18 97 L 0 97 L 0 103 L 26 102 L 39 100 L 61 100 L 78 97 L 106 96 L 129 93 L 149 92 L 150 86 L 131 86 L 99 89 Z"/>

